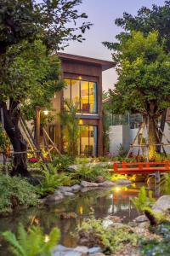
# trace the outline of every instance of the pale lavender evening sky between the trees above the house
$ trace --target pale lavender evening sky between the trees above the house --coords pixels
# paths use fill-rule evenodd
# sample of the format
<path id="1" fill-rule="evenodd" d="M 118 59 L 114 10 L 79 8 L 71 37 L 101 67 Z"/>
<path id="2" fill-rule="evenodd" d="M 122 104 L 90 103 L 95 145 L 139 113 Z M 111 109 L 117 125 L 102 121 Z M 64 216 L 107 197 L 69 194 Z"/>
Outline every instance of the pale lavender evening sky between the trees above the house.
<path id="1" fill-rule="evenodd" d="M 115 25 L 114 20 L 122 17 L 123 12 L 136 15 L 142 6 L 151 8 L 154 3 L 163 5 L 164 0 L 82 0 L 78 10 L 85 12 L 88 15 L 88 21 L 94 26 L 86 32 L 86 41 L 83 43 L 71 42 L 64 52 L 111 61 L 111 51 L 106 49 L 101 42 L 113 42 L 116 34 L 121 32 L 121 28 Z M 114 68 L 105 71 L 103 73 L 103 90 L 113 88 L 116 79 Z"/>

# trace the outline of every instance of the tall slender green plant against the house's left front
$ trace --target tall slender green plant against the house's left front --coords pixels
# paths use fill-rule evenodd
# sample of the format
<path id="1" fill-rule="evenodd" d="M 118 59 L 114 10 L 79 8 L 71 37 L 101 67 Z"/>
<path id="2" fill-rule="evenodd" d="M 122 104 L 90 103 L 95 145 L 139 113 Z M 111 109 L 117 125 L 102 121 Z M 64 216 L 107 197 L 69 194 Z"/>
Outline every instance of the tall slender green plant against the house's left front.
<path id="1" fill-rule="evenodd" d="M 64 141 L 67 143 L 66 151 L 75 158 L 78 154 L 78 137 L 80 135 L 79 119 L 77 119 L 77 107 L 71 102 L 65 101 L 65 110 L 59 114 L 61 125 L 65 127 Z"/>

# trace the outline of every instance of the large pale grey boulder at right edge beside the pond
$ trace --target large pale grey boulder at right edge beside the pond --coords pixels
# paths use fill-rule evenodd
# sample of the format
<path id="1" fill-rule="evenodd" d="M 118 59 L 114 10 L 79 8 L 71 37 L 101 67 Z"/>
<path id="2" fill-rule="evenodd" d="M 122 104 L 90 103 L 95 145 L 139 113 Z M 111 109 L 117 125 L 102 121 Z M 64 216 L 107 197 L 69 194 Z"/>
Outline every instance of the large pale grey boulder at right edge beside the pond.
<path id="1" fill-rule="evenodd" d="M 162 195 L 154 204 L 152 209 L 155 212 L 166 212 L 170 209 L 170 195 Z"/>

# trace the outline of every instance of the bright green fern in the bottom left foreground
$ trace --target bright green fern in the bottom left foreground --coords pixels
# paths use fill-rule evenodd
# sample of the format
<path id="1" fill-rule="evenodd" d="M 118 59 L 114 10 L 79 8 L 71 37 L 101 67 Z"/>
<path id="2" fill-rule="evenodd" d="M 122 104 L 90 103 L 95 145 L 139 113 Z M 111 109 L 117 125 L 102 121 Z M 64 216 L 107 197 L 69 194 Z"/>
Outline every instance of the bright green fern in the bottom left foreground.
<path id="1" fill-rule="evenodd" d="M 3 232 L 3 238 L 8 241 L 10 252 L 14 256 L 51 256 L 52 249 L 59 241 L 59 229 L 54 228 L 49 235 L 44 235 L 39 226 L 32 226 L 26 231 L 20 224 L 18 234 L 11 231 Z"/>

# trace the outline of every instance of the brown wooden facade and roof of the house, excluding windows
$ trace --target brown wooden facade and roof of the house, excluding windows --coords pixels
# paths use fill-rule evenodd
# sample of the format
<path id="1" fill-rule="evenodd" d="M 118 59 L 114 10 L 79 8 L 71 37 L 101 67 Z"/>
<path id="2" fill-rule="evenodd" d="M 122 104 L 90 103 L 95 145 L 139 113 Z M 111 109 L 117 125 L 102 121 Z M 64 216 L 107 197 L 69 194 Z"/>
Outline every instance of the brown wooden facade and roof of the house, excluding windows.
<path id="1" fill-rule="evenodd" d="M 103 61 L 79 55 L 59 53 L 62 65 L 62 77 L 64 79 L 77 79 L 97 83 L 97 113 L 77 113 L 83 125 L 97 126 L 97 155 L 103 155 L 103 125 L 102 125 L 102 72 L 114 67 L 112 61 Z M 57 93 L 53 100 L 53 108 L 59 113 L 64 108 L 64 93 Z M 54 122 L 48 126 L 50 137 L 57 143 L 60 151 L 63 150 L 62 127 L 59 124 L 59 116 L 56 114 Z"/>

